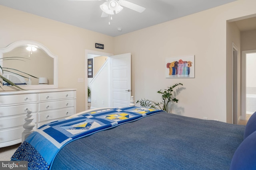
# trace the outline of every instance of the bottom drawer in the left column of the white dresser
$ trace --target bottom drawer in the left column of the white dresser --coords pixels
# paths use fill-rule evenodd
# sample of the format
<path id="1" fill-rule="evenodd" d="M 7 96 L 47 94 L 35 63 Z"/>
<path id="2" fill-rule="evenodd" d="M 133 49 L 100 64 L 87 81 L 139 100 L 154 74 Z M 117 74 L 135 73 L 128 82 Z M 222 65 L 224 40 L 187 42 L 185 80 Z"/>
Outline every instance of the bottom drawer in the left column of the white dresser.
<path id="1" fill-rule="evenodd" d="M 24 128 L 22 126 L 0 131 L 0 147 L 1 145 L 4 145 L 2 143 L 5 143 L 5 142 L 6 143 L 10 142 L 12 144 L 21 142 L 21 134 L 23 131 L 24 131 Z M 6 146 L 10 146 L 10 145 L 6 145 Z"/>

